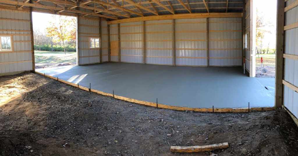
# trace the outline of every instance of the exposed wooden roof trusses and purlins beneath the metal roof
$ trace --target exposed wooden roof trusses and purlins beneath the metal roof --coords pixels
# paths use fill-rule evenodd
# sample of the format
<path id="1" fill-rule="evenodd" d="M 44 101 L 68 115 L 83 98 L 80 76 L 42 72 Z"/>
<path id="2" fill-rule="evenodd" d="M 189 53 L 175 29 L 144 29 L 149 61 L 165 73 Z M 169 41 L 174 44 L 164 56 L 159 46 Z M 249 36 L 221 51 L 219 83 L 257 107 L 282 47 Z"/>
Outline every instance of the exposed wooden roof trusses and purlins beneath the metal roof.
<path id="1" fill-rule="evenodd" d="M 0 8 L 10 6 L 60 15 L 80 14 L 108 21 L 144 16 L 185 13 L 242 13 L 242 0 L 0 0 Z"/>

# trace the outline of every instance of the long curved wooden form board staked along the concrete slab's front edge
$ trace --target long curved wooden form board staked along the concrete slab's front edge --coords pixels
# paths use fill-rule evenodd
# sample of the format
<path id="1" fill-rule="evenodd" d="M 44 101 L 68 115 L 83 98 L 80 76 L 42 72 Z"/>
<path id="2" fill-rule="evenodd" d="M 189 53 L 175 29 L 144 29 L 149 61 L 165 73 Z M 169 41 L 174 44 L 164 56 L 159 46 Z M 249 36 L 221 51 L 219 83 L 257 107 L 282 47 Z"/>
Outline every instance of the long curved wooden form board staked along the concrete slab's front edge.
<path id="1" fill-rule="evenodd" d="M 35 71 L 35 73 L 43 75 L 43 76 L 48 77 L 48 78 L 52 78 L 52 79 L 60 81 L 60 82 L 63 82 L 65 84 L 69 84 L 69 85 L 74 86 L 74 87 L 78 87 L 78 88 L 86 90 L 86 91 L 95 92 L 97 94 L 105 95 L 105 96 L 111 96 L 111 97 L 114 97 L 114 98 L 119 99 L 119 100 L 133 102 L 133 103 L 141 104 L 141 105 L 145 105 L 145 106 L 152 106 L 152 107 L 156 107 L 156 108 L 164 108 L 164 109 L 179 110 L 179 111 L 186 111 L 187 110 L 187 111 L 194 111 L 194 112 L 233 112 L 233 113 L 275 110 L 275 107 L 191 108 L 191 107 L 171 106 L 171 105 L 167 105 L 167 104 L 160 104 L 160 103 L 137 100 L 137 99 L 133 99 L 133 98 L 127 98 L 127 97 L 123 97 L 123 96 L 119 96 L 119 95 L 115 95 L 115 94 L 111 94 L 111 93 L 106 93 L 106 92 L 96 90 L 96 89 L 89 89 L 87 87 L 80 86 L 79 84 L 74 84 L 74 83 L 59 79 L 58 77 L 53 77 L 53 76 L 50 76 L 50 75 L 46 75 L 45 73 L 40 73 L 40 72 L 36 72 L 36 71 Z"/>

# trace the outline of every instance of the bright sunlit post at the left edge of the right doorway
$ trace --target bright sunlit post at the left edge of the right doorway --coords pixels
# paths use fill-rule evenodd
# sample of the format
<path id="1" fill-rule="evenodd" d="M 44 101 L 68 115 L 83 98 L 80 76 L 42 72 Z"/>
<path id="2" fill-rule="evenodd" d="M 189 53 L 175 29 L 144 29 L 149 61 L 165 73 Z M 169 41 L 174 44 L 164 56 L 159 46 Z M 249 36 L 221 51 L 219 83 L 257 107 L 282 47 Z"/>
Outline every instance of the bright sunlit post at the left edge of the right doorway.
<path id="1" fill-rule="evenodd" d="M 249 51 L 250 51 L 250 56 L 249 56 L 249 77 L 255 77 L 256 76 L 256 21 L 257 21 L 257 16 L 256 16 L 256 4 L 254 4 L 254 0 L 250 0 L 249 3 L 250 7 L 250 33 L 249 33 Z"/>

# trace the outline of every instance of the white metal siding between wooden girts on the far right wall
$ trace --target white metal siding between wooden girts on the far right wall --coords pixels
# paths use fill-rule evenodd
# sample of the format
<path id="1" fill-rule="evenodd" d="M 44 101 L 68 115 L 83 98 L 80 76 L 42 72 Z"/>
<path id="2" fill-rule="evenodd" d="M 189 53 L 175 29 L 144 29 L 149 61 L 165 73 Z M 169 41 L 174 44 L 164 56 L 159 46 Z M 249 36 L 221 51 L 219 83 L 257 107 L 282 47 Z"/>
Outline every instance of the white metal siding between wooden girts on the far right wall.
<path id="1" fill-rule="evenodd" d="M 286 2 L 286 6 L 294 0 Z M 285 25 L 298 22 L 298 7 L 285 12 Z M 285 54 L 298 55 L 298 28 L 285 31 Z M 284 59 L 284 80 L 298 87 L 298 60 Z M 298 93 L 284 85 L 283 104 L 298 118 Z"/>

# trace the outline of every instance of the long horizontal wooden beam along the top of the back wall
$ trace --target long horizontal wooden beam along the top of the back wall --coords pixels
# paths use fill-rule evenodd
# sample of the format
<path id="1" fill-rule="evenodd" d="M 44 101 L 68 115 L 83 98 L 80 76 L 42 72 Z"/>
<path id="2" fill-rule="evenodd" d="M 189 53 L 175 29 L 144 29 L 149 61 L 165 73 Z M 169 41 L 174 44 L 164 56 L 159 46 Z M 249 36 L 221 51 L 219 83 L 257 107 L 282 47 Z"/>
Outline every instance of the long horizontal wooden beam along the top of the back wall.
<path id="1" fill-rule="evenodd" d="M 166 20 L 166 19 L 183 19 L 183 18 L 241 18 L 243 13 L 192 13 L 192 14 L 175 14 L 175 15 L 161 15 L 161 16 L 146 16 L 129 19 L 120 19 L 108 21 L 108 24 L 127 23 L 136 21 L 152 21 L 152 20 Z"/>

